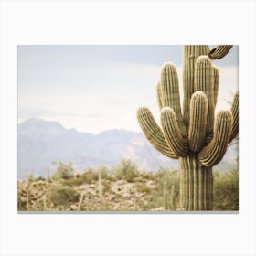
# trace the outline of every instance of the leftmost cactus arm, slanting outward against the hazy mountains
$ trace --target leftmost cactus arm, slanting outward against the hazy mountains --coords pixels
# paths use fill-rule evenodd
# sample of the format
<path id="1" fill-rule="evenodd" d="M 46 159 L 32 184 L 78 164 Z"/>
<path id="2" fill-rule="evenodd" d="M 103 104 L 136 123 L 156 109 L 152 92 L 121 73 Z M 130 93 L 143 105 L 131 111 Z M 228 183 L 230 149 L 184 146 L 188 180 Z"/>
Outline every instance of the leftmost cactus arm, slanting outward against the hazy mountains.
<path id="1" fill-rule="evenodd" d="M 164 134 L 162 133 L 158 124 L 155 122 L 155 119 L 149 109 L 145 107 L 139 108 L 137 111 L 137 119 L 145 137 L 156 150 L 168 157 L 178 158 L 177 155 L 166 144 Z"/>

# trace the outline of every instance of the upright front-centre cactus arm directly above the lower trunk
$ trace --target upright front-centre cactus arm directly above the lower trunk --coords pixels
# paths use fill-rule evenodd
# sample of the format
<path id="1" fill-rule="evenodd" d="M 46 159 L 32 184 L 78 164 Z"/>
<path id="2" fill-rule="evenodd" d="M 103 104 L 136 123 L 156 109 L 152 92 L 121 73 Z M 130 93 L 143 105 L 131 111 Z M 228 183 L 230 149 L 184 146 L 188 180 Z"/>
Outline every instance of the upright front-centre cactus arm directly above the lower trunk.
<path id="1" fill-rule="evenodd" d="M 196 91 L 190 101 L 190 122 L 188 130 L 189 147 L 194 152 L 205 143 L 208 117 L 208 99 L 203 91 Z"/>

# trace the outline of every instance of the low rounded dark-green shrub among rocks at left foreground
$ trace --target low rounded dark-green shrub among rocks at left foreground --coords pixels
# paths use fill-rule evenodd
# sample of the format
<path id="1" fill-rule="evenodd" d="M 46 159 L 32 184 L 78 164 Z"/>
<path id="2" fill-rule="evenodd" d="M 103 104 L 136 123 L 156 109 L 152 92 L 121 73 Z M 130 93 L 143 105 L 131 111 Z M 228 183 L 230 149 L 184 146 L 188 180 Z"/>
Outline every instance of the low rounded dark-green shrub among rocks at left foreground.
<path id="1" fill-rule="evenodd" d="M 50 200 L 55 206 L 68 207 L 72 202 L 78 202 L 79 193 L 69 186 L 55 186 L 50 189 Z"/>

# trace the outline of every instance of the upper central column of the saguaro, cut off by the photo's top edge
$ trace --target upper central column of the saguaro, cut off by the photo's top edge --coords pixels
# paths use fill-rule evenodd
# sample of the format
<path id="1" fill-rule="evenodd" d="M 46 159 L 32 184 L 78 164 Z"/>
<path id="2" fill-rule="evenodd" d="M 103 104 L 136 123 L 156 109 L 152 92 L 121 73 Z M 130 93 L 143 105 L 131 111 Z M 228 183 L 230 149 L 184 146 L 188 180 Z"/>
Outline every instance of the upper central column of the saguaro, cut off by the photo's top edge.
<path id="1" fill-rule="evenodd" d="M 187 45 L 183 47 L 182 70 L 183 70 L 183 122 L 186 127 L 189 124 L 189 106 L 191 95 L 196 91 L 194 87 L 194 75 L 196 60 L 201 55 L 208 55 L 208 46 Z"/>

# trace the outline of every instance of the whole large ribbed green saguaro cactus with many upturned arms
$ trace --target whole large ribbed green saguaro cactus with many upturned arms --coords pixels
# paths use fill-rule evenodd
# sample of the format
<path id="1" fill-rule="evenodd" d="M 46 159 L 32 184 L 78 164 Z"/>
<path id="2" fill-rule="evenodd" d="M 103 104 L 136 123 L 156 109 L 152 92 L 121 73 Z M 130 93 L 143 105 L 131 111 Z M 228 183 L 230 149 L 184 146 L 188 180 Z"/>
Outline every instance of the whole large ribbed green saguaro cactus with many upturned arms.
<path id="1" fill-rule="evenodd" d="M 211 59 L 220 59 L 232 46 L 183 47 L 183 112 L 176 67 L 166 63 L 157 84 L 161 126 L 146 107 L 137 111 L 144 135 L 162 154 L 179 159 L 180 208 L 211 210 L 212 166 L 219 163 L 228 144 L 239 132 L 239 96 L 230 111 L 215 116 L 219 70 Z"/>

